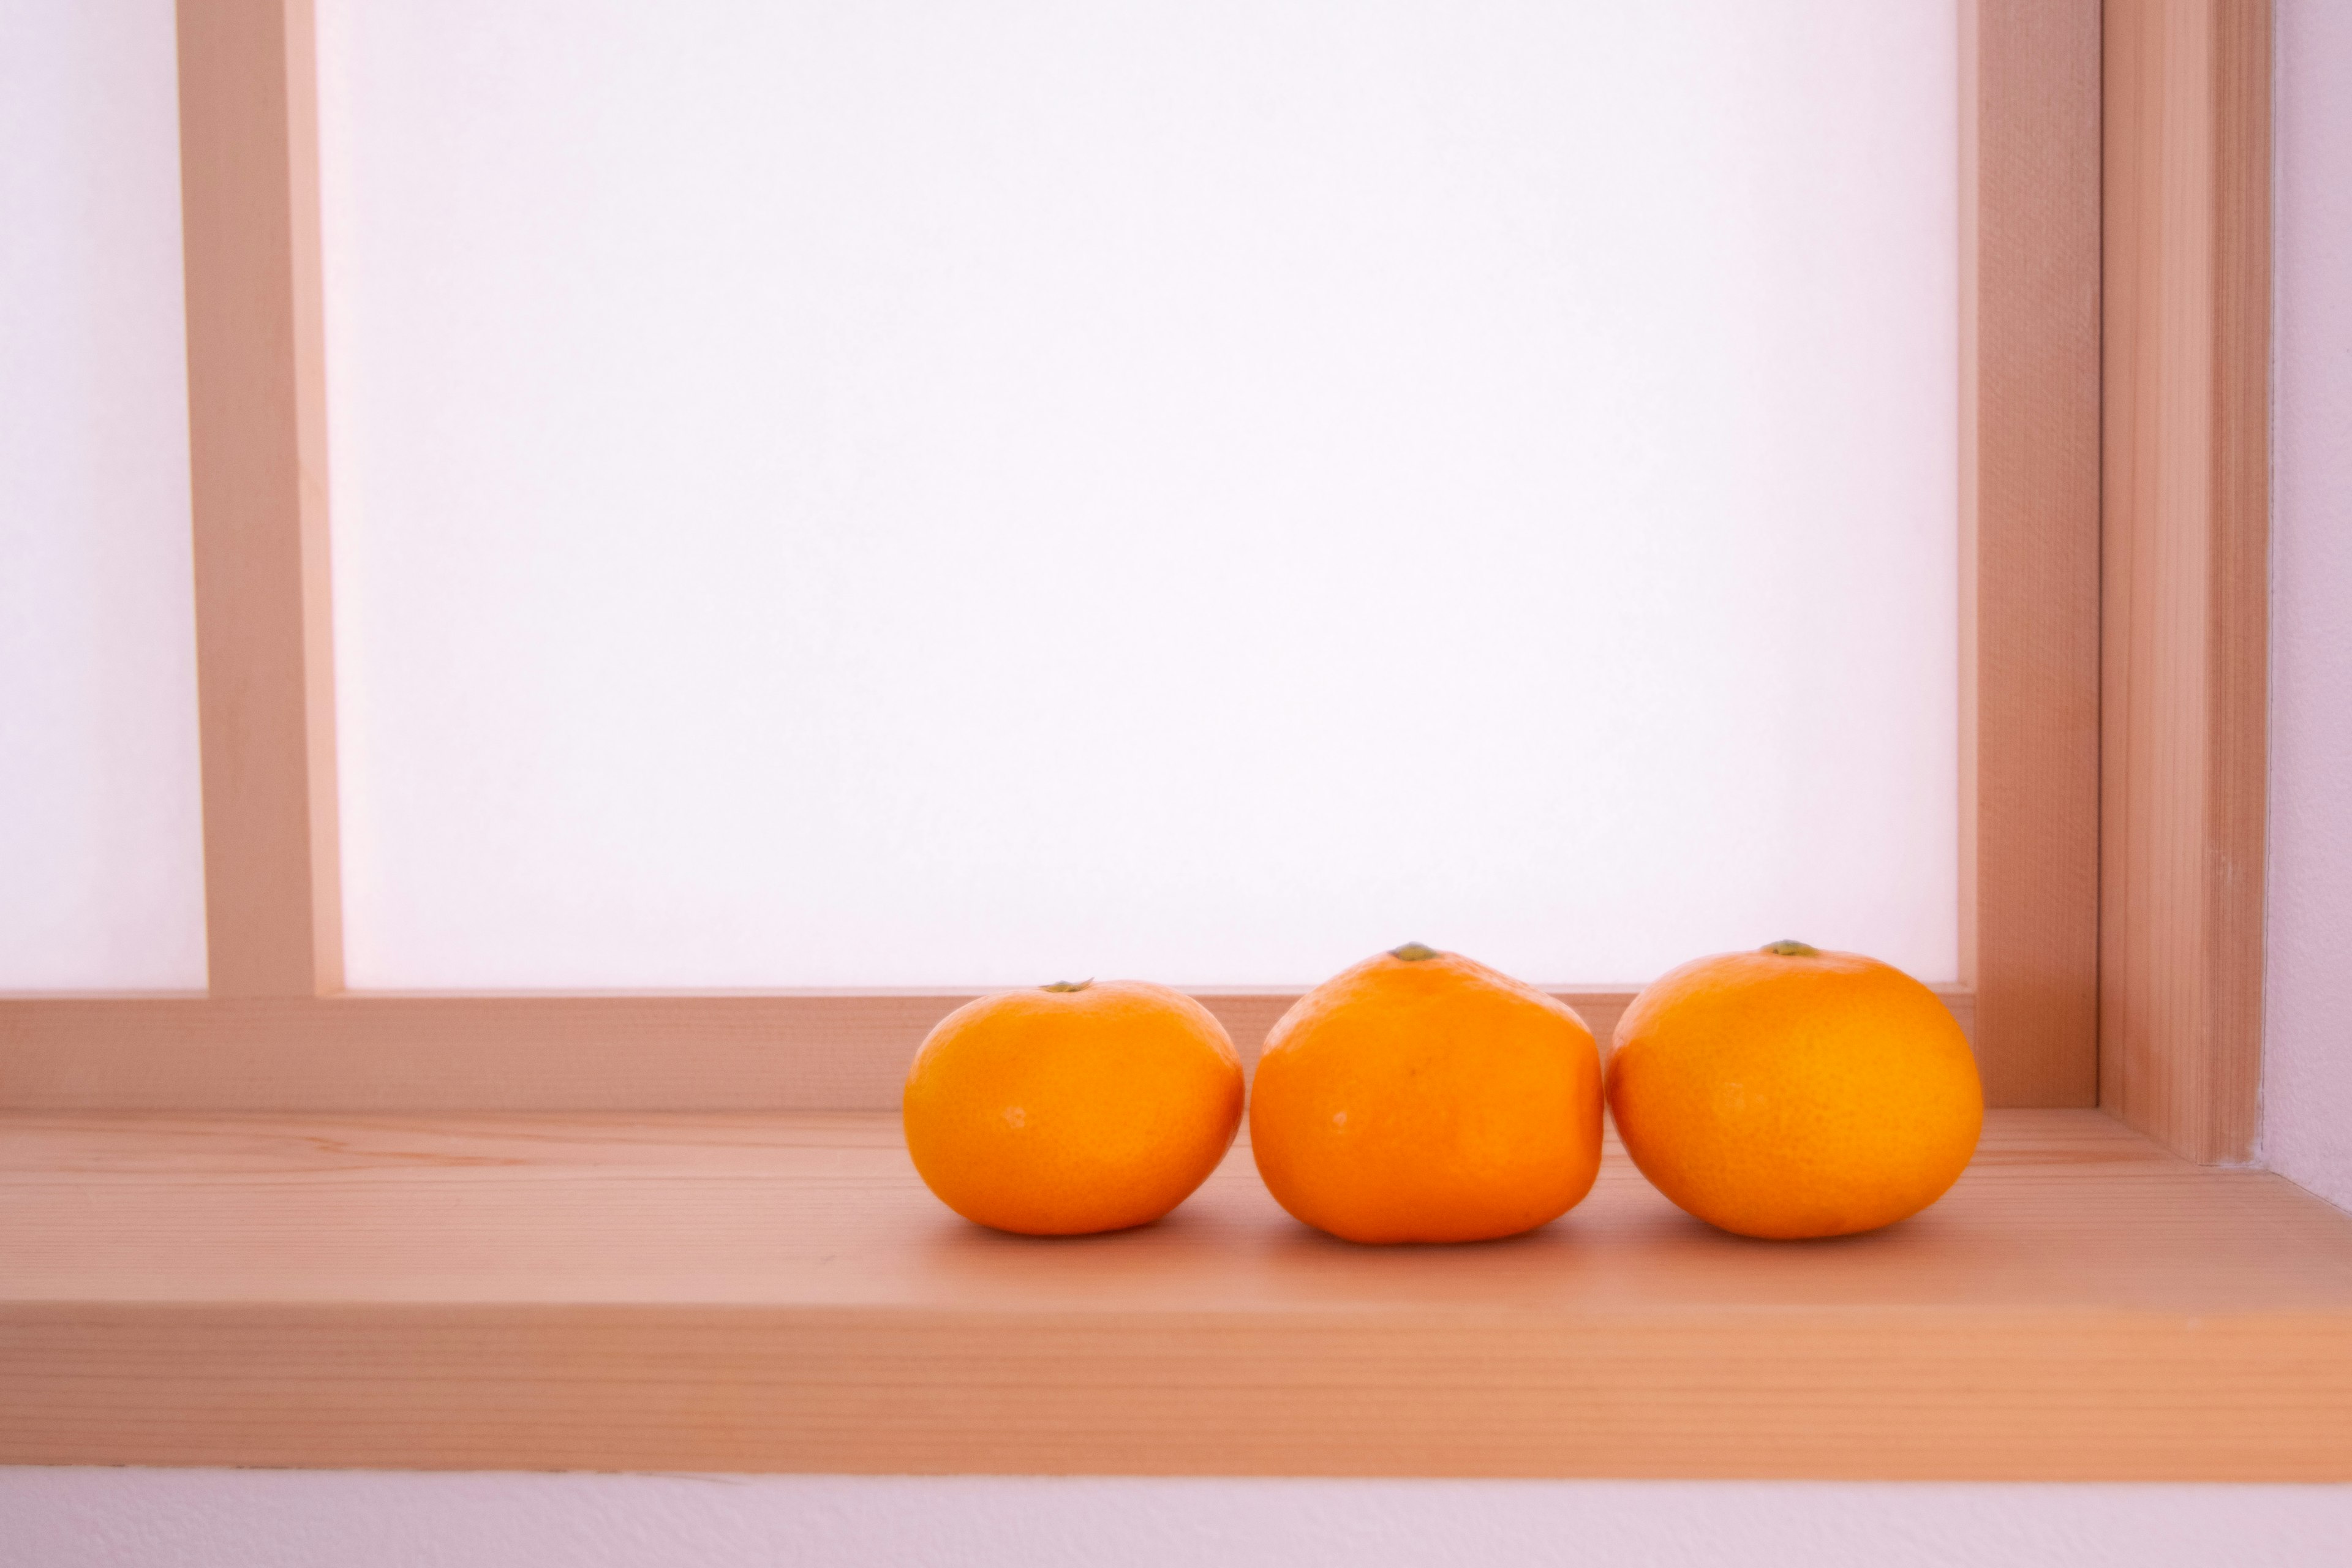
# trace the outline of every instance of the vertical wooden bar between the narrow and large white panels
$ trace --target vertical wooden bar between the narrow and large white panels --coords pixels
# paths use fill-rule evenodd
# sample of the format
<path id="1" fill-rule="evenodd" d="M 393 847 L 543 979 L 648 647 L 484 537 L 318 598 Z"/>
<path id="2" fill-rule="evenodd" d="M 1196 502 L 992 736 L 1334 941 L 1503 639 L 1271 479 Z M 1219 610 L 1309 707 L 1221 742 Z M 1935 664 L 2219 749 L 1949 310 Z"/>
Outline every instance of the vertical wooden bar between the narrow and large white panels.
<path id="1" fill-rule="evenodd" d="M 219 997 L 343 983 L 310 0 L 181 0 L 205 943 Z"/>

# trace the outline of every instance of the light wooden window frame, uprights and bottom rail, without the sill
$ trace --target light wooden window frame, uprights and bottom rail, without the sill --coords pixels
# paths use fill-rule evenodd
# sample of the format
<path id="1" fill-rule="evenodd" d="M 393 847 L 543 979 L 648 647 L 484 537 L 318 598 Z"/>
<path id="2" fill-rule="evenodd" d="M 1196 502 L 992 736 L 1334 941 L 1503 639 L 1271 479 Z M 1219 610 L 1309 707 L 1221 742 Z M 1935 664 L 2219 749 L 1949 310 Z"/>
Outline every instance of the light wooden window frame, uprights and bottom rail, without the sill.
<path id="1" fill-rule="evenodd" d="M 1950 1001 L 1992 1105 L 2100 1105 L 2199 1161 L 2244 1161 L 2270 5 L 1964 0 L 1959 56 Z M 181 0 L 179 115 L 209 985 L 0 999 L 0 1103 L 894 1105 L 908 1051 L 960 994 L 343 987 L 310 0 Z M 1630 997 L 1564 994 L 1604 1037 Z M 1207 999 L 1244 1048 L 1289 1004 Z"/>

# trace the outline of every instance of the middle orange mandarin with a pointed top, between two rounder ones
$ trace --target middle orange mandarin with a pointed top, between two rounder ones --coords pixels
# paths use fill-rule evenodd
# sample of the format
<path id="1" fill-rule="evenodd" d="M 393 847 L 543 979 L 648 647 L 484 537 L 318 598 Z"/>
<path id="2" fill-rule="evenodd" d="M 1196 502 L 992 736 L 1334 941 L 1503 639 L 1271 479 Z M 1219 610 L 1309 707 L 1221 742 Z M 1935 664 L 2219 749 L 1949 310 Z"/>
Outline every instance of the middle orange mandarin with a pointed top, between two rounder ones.
<path id="1" fill-rule="evenodd" d="M 1249 1147 L 1275 1201 L 1334 1237 L 1515 1237 L 1592 1190 L 1599 1046 L 1534 985 L 1411 943 L 1282 1016 Z"/>

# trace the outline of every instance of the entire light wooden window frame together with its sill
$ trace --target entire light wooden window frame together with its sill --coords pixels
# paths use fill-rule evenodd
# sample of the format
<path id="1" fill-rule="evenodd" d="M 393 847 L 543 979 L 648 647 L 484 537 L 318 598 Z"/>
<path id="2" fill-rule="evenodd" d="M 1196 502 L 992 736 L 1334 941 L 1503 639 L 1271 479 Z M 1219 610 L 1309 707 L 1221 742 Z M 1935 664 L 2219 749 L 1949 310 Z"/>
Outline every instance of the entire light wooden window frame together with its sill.
<path id="1" fill-rule="evenodd" d="M 2352 1220 L 2190 1164 L 2258 1105 L 2270 38 L 1962 0 L 1950 1001 L 2053 1110 L 1870 1237 L 1611 1154 L 1352 1248 L 1247 1159 L 953 1220 L 891 1114 L 953 994 L 343 990 L 310 0 L 181 0 L 209 990 L 0 999 L 0 1462 L 2352 1479 Z"/>

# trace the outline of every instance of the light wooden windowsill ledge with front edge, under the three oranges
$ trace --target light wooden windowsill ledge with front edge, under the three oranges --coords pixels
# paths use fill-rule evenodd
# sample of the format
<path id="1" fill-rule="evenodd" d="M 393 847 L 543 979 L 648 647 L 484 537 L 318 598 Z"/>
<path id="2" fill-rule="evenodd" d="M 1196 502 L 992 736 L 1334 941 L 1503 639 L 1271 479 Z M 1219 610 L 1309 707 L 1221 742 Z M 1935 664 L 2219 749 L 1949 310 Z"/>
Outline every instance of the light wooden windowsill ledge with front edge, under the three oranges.
<path id="1" fill-rule="evenodd" d="M 889 1117 L 0 1117 L 0 1462 L 2352 1479 L 2352 1218 L 2098 1112 L 1762 1244 L 969 1227 Z"/>

